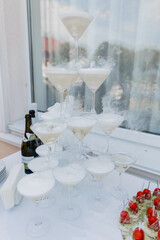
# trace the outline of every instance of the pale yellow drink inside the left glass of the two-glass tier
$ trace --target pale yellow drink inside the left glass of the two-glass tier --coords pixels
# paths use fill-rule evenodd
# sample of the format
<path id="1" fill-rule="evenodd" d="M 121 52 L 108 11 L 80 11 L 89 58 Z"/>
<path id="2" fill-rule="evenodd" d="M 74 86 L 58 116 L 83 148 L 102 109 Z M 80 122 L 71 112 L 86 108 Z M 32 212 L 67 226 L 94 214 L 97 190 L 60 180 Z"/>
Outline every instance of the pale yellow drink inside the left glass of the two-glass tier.
<path id="1" fill-rule="evenodd" d="M 45 75 L 48 77 L 49 82 L 54 85 L 58 91 L 63 92 L 69 89 L 78 77 L 77 72 L 69 71 L 45 71 Z"/>

